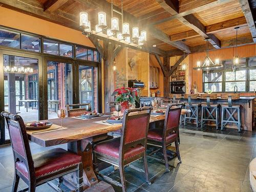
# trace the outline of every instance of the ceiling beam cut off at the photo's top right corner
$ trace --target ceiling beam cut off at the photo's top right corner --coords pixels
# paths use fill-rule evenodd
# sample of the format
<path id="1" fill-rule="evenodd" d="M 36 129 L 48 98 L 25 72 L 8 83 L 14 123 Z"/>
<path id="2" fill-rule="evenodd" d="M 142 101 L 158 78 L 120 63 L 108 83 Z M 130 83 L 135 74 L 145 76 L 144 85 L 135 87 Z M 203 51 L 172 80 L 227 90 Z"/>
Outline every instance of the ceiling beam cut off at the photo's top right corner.
<path id="1" fill-rule="evenodd" d="M 239 3 L 241 5 L 242 11 L 244 13 L 245 19 L 247 21 L 249 30 L 251 32 L 251 36 L 253 39 L 253 42 L 256 42 L 256 28 L 255 28 L 255 23 L 253 20 L 253 12 L 250 9 L 250 5 L 248 0 L 239 0 Z"/>

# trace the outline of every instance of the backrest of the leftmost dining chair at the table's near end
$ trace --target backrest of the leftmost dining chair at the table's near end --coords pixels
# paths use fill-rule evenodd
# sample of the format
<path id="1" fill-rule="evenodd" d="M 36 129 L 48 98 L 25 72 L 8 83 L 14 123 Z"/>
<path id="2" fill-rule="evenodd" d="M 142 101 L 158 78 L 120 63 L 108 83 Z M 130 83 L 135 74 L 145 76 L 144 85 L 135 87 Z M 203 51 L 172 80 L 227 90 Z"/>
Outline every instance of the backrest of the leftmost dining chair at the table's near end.
<path id="1" fill-rule="evenodd" d="M 8 112 L 2 112 L 1 116 L 5 118 L 5 124 L 9 131 L 10 141 L 12 145 L 14 165 L 16 162 L 23 162 L 28 170 L 29 180 L 35 178 L 34 163 L 30 151 L 26 126 L 22 117 L 12 115 Z"/>

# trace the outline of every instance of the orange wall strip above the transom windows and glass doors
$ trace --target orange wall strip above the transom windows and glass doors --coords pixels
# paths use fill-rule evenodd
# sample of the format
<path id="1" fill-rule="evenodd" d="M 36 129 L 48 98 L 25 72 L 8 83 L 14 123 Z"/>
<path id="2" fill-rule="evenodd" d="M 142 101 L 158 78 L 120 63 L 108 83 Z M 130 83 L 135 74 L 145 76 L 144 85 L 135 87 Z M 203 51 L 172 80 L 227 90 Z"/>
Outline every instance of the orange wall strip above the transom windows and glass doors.
<path id="1" fill-rule="evenodd" d="M 84 36 L 81 31 L 3 7 L 0 7 L 0 25 L 73 42 L 75 44 L 94 47 L 92 42 Z"/>

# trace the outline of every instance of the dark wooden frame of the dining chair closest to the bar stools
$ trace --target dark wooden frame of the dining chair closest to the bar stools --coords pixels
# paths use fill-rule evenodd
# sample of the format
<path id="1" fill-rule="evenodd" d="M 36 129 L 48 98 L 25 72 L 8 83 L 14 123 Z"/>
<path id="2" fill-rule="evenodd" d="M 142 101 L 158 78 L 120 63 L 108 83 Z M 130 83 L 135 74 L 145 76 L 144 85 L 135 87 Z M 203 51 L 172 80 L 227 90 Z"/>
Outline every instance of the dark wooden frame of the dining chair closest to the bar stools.
<path id="1" fill-rule="evenodd" d="M 181 163 L 181 158 L 180 158 L 180 151 L 179 151 L 179 122 L 178 122 L 178 126 L 173 127 L 172 129 L 167 129 L 167 122 L 168 122 L 168 114 L 171 111 L 175 111 L 175 110 L 179 110 L 179 114 L 181 114 L 181 107 L 184 105 L 184 103 L 174 103 L 174 104 L 169 104 L 167 106 L 166 112 L 165 112 L 165 119 L 164 119 L 164 127 L 163 127 L 163 135 L 162 135 L 162 141 L 156 141 L 156 140 L 151 140 L 151 139 L 147 139 L 147 144 L 148 145 L 153 145 L 153 146 L 157 146 L 157 147 L 161 147 L 158 150 L 152 152 L 156 153 L 159 150 L 163 150 L 163 156 L 164 156 L 164 162 L 165 162 L 165 170 L 166 172 L 169 172 L 169 163 L 168 163 L 168 158 L 167 158 L 167 146 L 169 146 L 170 144 L 172 144 L 173 142 L 175 142 L 175 148 L 176 148 L 176 154 L 178 157 L 178 160 Z M 176 108 L 172 108 L 173 106 L 178 106 Z M 180 115 L 179 115 L 180 116 Z M 178 118 L 180 121 L 180 118 Z M 168 135 L 169 132 L 175 132 L 177 134 L 177 137 L 174 139 L 170 139 L 168 142 L 166 141 L 166 137 Z M 148 156 L 150 156 L 153 159 L 156 159 L 158 161 L 162 162 L 162 159 L 156 158 L 154 156 L 152 156 L 151 154 L 149 154 Z"/>

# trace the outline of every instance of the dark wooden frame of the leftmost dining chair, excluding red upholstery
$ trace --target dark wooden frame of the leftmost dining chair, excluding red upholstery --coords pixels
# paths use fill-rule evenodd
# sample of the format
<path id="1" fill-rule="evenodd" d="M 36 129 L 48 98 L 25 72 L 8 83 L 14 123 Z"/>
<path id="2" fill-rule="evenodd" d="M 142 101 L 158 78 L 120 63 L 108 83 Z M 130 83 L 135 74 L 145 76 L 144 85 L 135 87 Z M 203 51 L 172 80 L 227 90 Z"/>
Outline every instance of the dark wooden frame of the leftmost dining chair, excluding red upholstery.
<path id="1" fill-rule="evenodd" d="M 10 139 L 11 145 L 12 145 L 12 151 L 13 151 L 13 158 L 14 158 L 14 180 L 13 180 L 12 192 L 17 191 L 20 178 L 22 178 L 22 180 L 29 186 L 28 188 L 23 189 L 21 191 L 28 190 L 29 192 L 35 192 L 35 188 L 37 186 L 47 183 L 53 179 L 61 178 L 62 176 L 65 176 L 65 175 L 73 173 L 73 172 L 77 173 L 78 191 L 79 192 L 83 191 L 82 162 L 80 162 L 78 164 L 71 165 L 66 168 L 59 169 L 56 172 L 49 173 L 44 176 L 36 177 L 34 162 L 33 162 L 33 158 L 31 155 L 29 140 L 28 140 L 28 136 L 27 136 L 27 132 L 26 132 L 26 126 L 24 124 L 22 117 L 20 117 L 19 115 L 12 115 L 8 112 L 2 112 L 1 116 L 3 116 L 5 118 L 5 124 L 8 127 L 9 134 L 10 134 L 9 125 L 12 125 L 16 129 L 19 129 L 20 135 L 22 137 L 24 152 L 25 152 L 25 157 L 24 157 L 24 155 L 21 155 L 18 152 L 16 152 L 13 147 L 12 138 Z M 11 134 L 10 134 L 10 137 L 11 137 Z M 20 147 L 22 147 L 22 146 L 20 146 Z M 16 169 L 16 162 L 18 162 L 18 161 L 22 161 L 25 163 L 26 168 L 28 170 L 28 178 L 25 177 L 22 173 L 20 173 Z"/>

